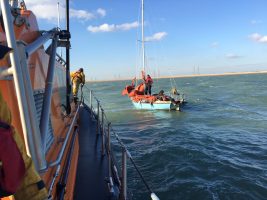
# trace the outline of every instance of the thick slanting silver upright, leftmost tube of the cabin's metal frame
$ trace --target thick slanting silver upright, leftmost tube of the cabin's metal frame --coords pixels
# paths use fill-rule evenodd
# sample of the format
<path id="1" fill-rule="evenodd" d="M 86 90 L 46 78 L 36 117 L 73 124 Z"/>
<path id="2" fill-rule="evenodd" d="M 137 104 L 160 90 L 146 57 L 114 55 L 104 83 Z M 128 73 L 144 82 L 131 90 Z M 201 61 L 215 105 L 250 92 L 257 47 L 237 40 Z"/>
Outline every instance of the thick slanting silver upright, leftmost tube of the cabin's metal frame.
<path id="1" fill-rule="evenodd" d="M 45 154 L 39 147 L 42 146 L 40 129 L 36 121 L 36 109 L 33 100 L 33 91 L 30 85 L 29 71 L 25 45 L 16 41 L 13 29 L 11 8 L 7 0 L 1 0 L 1 10 L 6 32 L 7 44 L 13 49 L 10 53 L 10 74 L 13 76 L 18 107 L 27 153 L 31 155 L 36 168 L 46 168 Z"/>

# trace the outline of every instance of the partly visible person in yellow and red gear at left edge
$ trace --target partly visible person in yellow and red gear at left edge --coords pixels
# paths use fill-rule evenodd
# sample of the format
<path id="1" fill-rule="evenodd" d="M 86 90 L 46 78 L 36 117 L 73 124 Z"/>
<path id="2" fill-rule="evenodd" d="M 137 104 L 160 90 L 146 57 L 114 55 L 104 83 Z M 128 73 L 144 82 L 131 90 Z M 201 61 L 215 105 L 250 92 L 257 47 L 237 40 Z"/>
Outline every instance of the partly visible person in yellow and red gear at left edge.
<path id="1" fill-rule="evenodd" d="M 0 91 L 0 198 L 40 200 L 48 196 L 44 182 L 27 155 L 24 142 L 11 125 L 11 112 Z"/>

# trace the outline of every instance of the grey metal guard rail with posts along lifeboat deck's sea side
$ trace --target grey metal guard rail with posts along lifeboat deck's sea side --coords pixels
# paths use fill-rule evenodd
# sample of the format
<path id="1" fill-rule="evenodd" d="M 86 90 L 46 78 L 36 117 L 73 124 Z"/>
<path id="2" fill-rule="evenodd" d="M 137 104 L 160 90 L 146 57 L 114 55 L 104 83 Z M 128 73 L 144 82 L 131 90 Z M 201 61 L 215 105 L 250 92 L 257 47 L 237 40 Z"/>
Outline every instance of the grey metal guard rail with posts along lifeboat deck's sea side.
<path id="1" fill-rule="evenodd" d="M 120 147 L 122 148 L 122 177 L 121 177 L 121 181 L 122 183 L 120 183 L 120 186 L 122 186 L 120 188 L 121 191 L 121 199 L 126 200 L 127 199 L 127 158 L 130 159 L 131 163 L 134 166 L 134 169 L 137 171 L 138 175 L 140 176 L 142 182 L 144 183 L 144 185 L 146 186 L 146 189 L 150 192 L 150 197 L 152 200 L 159 200 L 159 198 L 157 197 L 157 195 L 152 191 L 152 189 L 150 188 L 150 186 L 148 185 L 148 183 L 146 182 L 146 180 L 144 179 L 144 176 L 142 175 L 141 171 L 139 170 L 139 168 L 137 167 L 136 163 L 133 160 L 133 157 L 131 156 L 129 150 L 127 149 L 126 145 L 123 143 L 123 141 L 120 139 L 119 135 L 116 133 L 116 131 L 112 128 L 111 126 L 111 122 L 108 120 L 103 107 L 100 105 L 100 101 L 98 100 L 98 98 L 94 95 L 93 91 L 90 90 L 88 87 L 84 86 L 84 88 L 87 89 L 87 91 L 89 92 L 90 96 L 89 96 L 89 100 L 83 95 L 83 92 L 81 92 L 81 99 L 87 100 L 89 105 L 90 105 L 90 110 L 92 112 L 92 114 L 95 116 L 96 120 L 97 120 L 97 134 L 99 133 L 99 129 L 101 127 L 101 132 L 102 132 L 102 148 L 103 146 L 106 147 L 106 152 L 108 154 L 108 162 L 109 162 L 109 186 L 110 186 L 110 192 L 112 193 L 112 191 L 114 192 L 114 190 L 112 190 L 113 187 L 113 181 L 112 181 L 112 177 L 111 177 L 111 145 L 110 145 L 110 132 L 113 133 L 113 135 L 115 136 L 115 139 L 117 140 L 117 142 L 119 143 Z M 82 90 L 82 89 L 81 89 Z M 97 113 L 93 107 L 93 100 L 95 100 L 97 102 Z M 100 120 L 100 110 L 101 112 L 101 119 Z M 105 145 L 105 122 L 107 124 L 107 145 Z M 103 149 L 102 149 L 102 155 L 103 155 Z"/>

